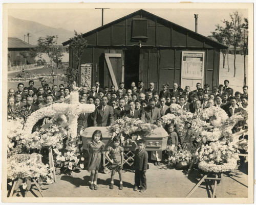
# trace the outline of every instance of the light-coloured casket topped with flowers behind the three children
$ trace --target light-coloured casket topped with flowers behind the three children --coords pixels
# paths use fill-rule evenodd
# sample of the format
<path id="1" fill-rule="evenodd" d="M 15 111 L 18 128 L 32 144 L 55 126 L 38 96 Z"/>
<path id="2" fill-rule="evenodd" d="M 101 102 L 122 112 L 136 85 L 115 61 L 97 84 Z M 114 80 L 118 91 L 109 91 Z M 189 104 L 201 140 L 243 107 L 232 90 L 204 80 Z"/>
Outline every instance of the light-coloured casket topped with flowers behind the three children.
<path id="1" fill-rule="evenodd" d="M 91 126 L 87 127 L 83 133 L 81 134 L 83 148 L 87 149 L 87 142 L 92 140 L 92 135 L 95 130 L 100 130 L 102 133 L 102 142 L 107 146 L 111 144 L 111 135 L 106 127 L 103 126 Z M 167 147 L 168 134 L 162 127 L 157 127 L 154 130 L 154 133 L 145 140 L 145 147 L 147 151 L 156 151 L 156 150 L 165 150 Z M 131 151 L 135 150 L 136 147 L 132 146 L 122 146 L 126 150 L 129 149 Z"/>

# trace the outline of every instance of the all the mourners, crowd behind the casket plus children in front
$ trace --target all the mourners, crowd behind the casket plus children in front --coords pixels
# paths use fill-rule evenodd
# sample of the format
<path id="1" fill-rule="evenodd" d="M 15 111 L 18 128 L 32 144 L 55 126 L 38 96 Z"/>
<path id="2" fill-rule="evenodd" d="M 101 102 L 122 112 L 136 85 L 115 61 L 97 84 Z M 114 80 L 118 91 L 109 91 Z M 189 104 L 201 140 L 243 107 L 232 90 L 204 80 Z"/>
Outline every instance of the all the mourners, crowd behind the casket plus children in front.
<path id="1" fill-rule="evenodd" d="M 77 132 L 80 133 L 81 130 L 90 126 L 109 126 L 114 120 L 122 118 L 123 116 L 139 118 L 145 122 L 157 124 L 159 118 L 170 113 L 170 106 L 173 104 L 179 104 L 184 111 L 194 113 L 195 118 L 203 109 L 211 106 L 222 108 L 229 117 L 239 112 L 241 109 L 247 110 L 248 86 L 243 87 L 243 93 L 239 91 L 234 92 L 234 90 L 229 87 L 229 81 L 225 80 L 224 85 L 221 84 L 212 87 L 211 92 L 209 88 L 209 84 L 205 84 L 202 88 L 202 85 L 197 83 L 195 90 L 190 90 L 189 86 L 182 89 L 177 83 L 174 83 L 173 88 L 170 89 L 168 85 L 163 85 L 162 90 L 158 93 L 154 83 L 150 83 L 150 88 L 145 88 L 143 81 L 139 82 L 138 87 L 135 82 L 132 82 L 130 86 L 126 87 L 124 83 L 120 83 L 119 88 L 116 89 L 113 85 L 110 88 L 101 88 L 100 83 L 96 81 L 90 90 L 87 87 L 81 87 L 79 90 L 79 102 L 81 104 L 94 104 L 96 108 L 92 113 L 81 113 L 78 116 Z M 25 87 L 24 83 L 18 83 L 16 91 L 11 88 L 8 92 L 8 114 L 10 115 L 19 110 L 33 112 L 55 102 L 67 103 L 69 97 L 70 89 L 63 84 L 59 86 L 53 85 L 52 88 L 50 88 L 46 81 L 41 81 L 41 87 L 35 88 L 32 80 L 29 81 L 28 87 Z M 178 136 L 177 134 L 175 135 L 174 125 L 170 124 L 167 131 L 169 134 L 167 146 L 173 148 L 177 146 L 178 143 Z M 100 136 L 101 134 L 98 136 L 99 139 L 97 141 L 100 141 Z M 121 160 L 121 158 L 123 159 L 123 155 L 121 152 L 123 150 L 119 146 L 120 139 L 115 140 L 116 143 L 114 142 L 113 147 L 110 147 L 107 152 L 108 154 L 114 155 L 113 153 L 117 153 L 115 150 L 117 150 L 118 147 L 118 159 L 120 158 L 118 162 L 122 162 L 123 160 Z M 143 151 L 144 142 L 142 141 L 140 144 L 142 148 L 139 147 L 137 150 L 138 153 L 136 152 L 136 157 L 138 157 L 140 153 L 147 155 L 146 151 Z M 91 143 L 88 144 L 88 146 L 90 153 L 90 147 L 94 146 L 94 144 Z M 95 149 L 91 151 L 94 155 Z M 106 157 L 110 162 L 113 161 L 108 158 L 108 156 Z M 138 158 L 137 161 L 139 161 L 139 159 L 140 158 Z M 160 165 L 160 161 L 162 160 L 161 151 L 152 151 L 151 160 L 153 160 L 154 165 Z M 98 162 L 98 160 L 95 162 L 94 158 L 89 162 L 91 166 L 90 170 L 94 170 L 91 172 L 91 189 L 97 189 L 96 182 L 94 185 L 93 182 L 95 180 L 97 181 L 97 172 L 95 170 L 98 170 L 99 165 L 96 166 L 95 163 L 100 162 Z M 136 182 L 134 190 L 138 189 L 139 181 L 144 183 L 142 183 L 144 186 L 143 189 L 146 189 L 146 168 L 142 167 L 141 164 L 143 164 L 143 162 L 136 164 L 136 166 L 139 167 L 139 171 L 137 170 L 135 173 Z M 112 169 L 119 172 L 121 182 L 121 169 L 116 165 L 117 164 L 113 161 Z M 119 165 L 120 164 L 118 164 L 118 166 Z M 115 171 L 111 176 L 112 181 Z M 111 184 L 110 189 L 113 189 L 113 184 Z M 122 189 L 121 184 L 120 189 Z"/>

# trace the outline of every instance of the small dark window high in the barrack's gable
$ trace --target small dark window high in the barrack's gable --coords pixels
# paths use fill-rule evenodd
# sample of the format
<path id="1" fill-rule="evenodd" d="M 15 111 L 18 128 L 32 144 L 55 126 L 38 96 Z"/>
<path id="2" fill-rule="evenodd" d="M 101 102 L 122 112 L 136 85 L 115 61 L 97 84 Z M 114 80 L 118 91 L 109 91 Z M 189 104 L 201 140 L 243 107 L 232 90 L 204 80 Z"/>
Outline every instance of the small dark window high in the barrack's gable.
<path id="1" fill-rule="evenodd" d="M 134 18 L 133 19 L 133 39 L 147 39 L 147 19 Z"/>

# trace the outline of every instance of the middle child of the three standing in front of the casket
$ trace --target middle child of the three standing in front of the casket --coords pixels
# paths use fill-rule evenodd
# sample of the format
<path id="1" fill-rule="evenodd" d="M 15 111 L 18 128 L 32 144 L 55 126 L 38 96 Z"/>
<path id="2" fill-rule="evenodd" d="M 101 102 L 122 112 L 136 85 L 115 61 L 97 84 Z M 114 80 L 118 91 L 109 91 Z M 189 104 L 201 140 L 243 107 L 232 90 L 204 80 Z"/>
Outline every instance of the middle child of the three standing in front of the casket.
<path id="1" fill-rule="evenodd" d="M 122 168 L 123 168 L 123 148 L 120 146 L 121 143 L 121 138 L 115 136 L 113 138 L 113 145 L 109 146 L 106 149 L 106 158 L 112 163 L 111 165 L 111 184 L 110 184 L 110 189 L 114 188 L 114 176 L 116 170 L 118 170 L 119 178 L 120 178 L 120 186 L 119 189 L 123 189 L 123 181 L 122 181 Z M 109 153 L 112 157 L 110 159 Z"/>

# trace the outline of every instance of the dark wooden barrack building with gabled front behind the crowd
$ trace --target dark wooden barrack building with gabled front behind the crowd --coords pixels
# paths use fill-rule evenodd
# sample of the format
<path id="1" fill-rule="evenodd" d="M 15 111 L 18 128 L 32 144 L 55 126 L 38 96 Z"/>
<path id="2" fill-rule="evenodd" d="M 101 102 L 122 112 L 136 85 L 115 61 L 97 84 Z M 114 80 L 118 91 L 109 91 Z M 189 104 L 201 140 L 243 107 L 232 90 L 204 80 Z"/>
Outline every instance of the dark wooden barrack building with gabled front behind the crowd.
<path id="1" fill-rule="evenodd" d="M 88 47 L 81 59 L 79 84 L 101 86 L 120 82 L 150 82 L 160 91 L 162 85 L 178 83 L 181 88 L 196 83 L 219 85 L 220 49 L 227 46 L 190 31 L 144 10 L 138 10 L 83 34 Z M 62 44 L 68 45 L 70 40 Z M 72 50 L 69 57 L 73 65 Z M 88 75 L 89 80 L 88 82 Z M 90 85 L 90 86 L 91 86 Z"/>

